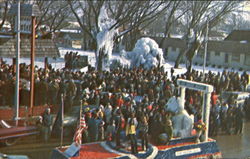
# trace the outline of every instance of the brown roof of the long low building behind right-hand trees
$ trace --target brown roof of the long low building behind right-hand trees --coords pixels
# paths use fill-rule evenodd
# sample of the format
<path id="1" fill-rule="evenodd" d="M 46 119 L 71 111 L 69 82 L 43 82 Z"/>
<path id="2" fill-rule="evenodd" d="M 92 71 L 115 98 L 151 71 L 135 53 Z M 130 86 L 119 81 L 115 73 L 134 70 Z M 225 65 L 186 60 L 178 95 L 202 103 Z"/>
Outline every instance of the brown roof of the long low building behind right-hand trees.
<path id="1" fill-rule="evenodd" d="M 162 38 L 156 37 L 153 38 L 158 44 Z M 163 44 L 163 48 L 174 47 L 180 48 L 181 50 L 186 49 L 185 41 L 182 39 L 176 38 L 166 38 Z M 204 49 L 201 49 L 203 51 Z M 250 54 L 250 43 L 241 43 L 239 41 L 208 41 L 208 51 L 215 51 L 215 52 L 226 52 L 226 53 L 233 53 L 233 54 Z"/>

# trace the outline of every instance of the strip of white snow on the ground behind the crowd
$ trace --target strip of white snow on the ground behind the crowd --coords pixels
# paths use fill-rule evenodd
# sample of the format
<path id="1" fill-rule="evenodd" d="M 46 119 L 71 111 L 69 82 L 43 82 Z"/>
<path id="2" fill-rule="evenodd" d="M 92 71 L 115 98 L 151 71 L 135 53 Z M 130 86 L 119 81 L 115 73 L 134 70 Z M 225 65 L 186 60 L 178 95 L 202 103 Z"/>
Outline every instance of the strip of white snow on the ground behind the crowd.
<path id="1" fill-rule="evenodd" d="M 89 64 L 92 67 L 95 67 L 95 52 L 94 51 L 83 51 L 83 50 L 78 50 L 78 49 L 67 49 L 67 48 L 59 48 L 59 52 L 60 52 L 60 57 L 53 59 L 53 58 L 49 58 L 48 62 L 52 65 L 53 68 L 55 69 L 61 69 L 65 66 L 64 63 L 64 55 L 67 52 L 78 52 L 79 55 L 82 56 L 88 56 L 89 58 Z M 7 62 L 7 64 L 12 64 L 12 58 L 3 58 L 4 61 Z M 126 61 L 126 59 L 124 57 L 120 57 L 120 54 L 116 53 L 113 54 L 111 57 L 111 61 L 112 60 L 119 60 L 120 62 L 122 62 L 124 64 L 124 66 L 128 65 L 129 62 Z M 20 63 L 26 63 L 27 65 L 30 64 L 30 58 L 21 58 L 20 59 Z M 44 58 L 36 58 L 35 59 L 35 65 L 37 65 L 39 68 L 44 68 Z M 164 70 L 166 72 L 168 72 L 168 75 L 170 75 L 170 69 L 174 66 L 174 62 L 169 62 L 169 61 L 165 61 L 163 63 L 164 66 Z M 193 66 L 194 70 L 197 71 L 203 71 L 203 66 Z M 177 69 L 174 69 L 174 75 L 178 75 L 178 74 L 183 74 L 187 71 L 187 69 L 185 68 L 185 64 L 180 64 L 180 67 Z M 208 71 L 211 71 L 213 73 L 217 73 L 217 72 L 223 72 L 223 68 L 212 68 L 212 67 L 206 67 L 205 68 L 205 73 L 207 73 Z M 86 70 L 85 70 L 86 71 Z M 239 73 L 242 73 L 242 71 L 236 70 L 236 69 L 227 69 L 227 71 L 237 71 Z M 248 73 L 250 73 L 250 71 L 248 71 Z"/>

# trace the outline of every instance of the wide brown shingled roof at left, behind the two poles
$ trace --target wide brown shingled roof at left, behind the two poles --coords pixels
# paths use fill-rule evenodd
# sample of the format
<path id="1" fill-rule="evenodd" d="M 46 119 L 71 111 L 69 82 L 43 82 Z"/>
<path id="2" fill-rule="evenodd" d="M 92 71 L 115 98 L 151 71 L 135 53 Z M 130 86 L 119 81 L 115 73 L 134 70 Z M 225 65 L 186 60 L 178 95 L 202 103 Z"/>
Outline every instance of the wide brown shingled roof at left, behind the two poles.
<path id="1" fill-rule="evenodd" d="M 36 57 L 58 57 L 59 50 L 55 43 L 50 39 L 36 39 L 35 56 Z M 20 56 L 30 57 L 30 39 L 21 39 Z M 16 40 L 9 39 L 0 45 L 0 57 L 15 57 Z"/>

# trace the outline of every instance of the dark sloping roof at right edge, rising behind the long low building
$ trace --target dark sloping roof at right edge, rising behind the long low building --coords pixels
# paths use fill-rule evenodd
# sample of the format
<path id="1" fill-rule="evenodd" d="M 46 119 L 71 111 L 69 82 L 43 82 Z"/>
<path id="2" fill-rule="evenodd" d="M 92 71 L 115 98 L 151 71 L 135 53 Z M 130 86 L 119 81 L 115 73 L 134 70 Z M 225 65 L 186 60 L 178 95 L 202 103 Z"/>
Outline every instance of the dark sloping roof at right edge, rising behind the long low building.
<path id="1" fill-rule="evenodd" d="M 250 42 L 250 30 L 233 30 L 225 40 Z"/>

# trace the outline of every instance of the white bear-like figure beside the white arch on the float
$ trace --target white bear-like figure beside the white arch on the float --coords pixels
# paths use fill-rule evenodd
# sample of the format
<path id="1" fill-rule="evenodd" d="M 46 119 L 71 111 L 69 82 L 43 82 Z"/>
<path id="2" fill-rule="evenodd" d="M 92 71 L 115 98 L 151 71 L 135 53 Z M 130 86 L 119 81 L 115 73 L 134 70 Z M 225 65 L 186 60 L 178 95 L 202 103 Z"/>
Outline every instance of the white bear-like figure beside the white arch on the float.
<path id="1" fill-rule="evenodd" d="M 173 136 L 181 138 L 191 136 L 194 119 L 184 109 L 184 101 L 173 96 L 168 100 L 165 109 L 174 113 L 172 116 Z"/>

